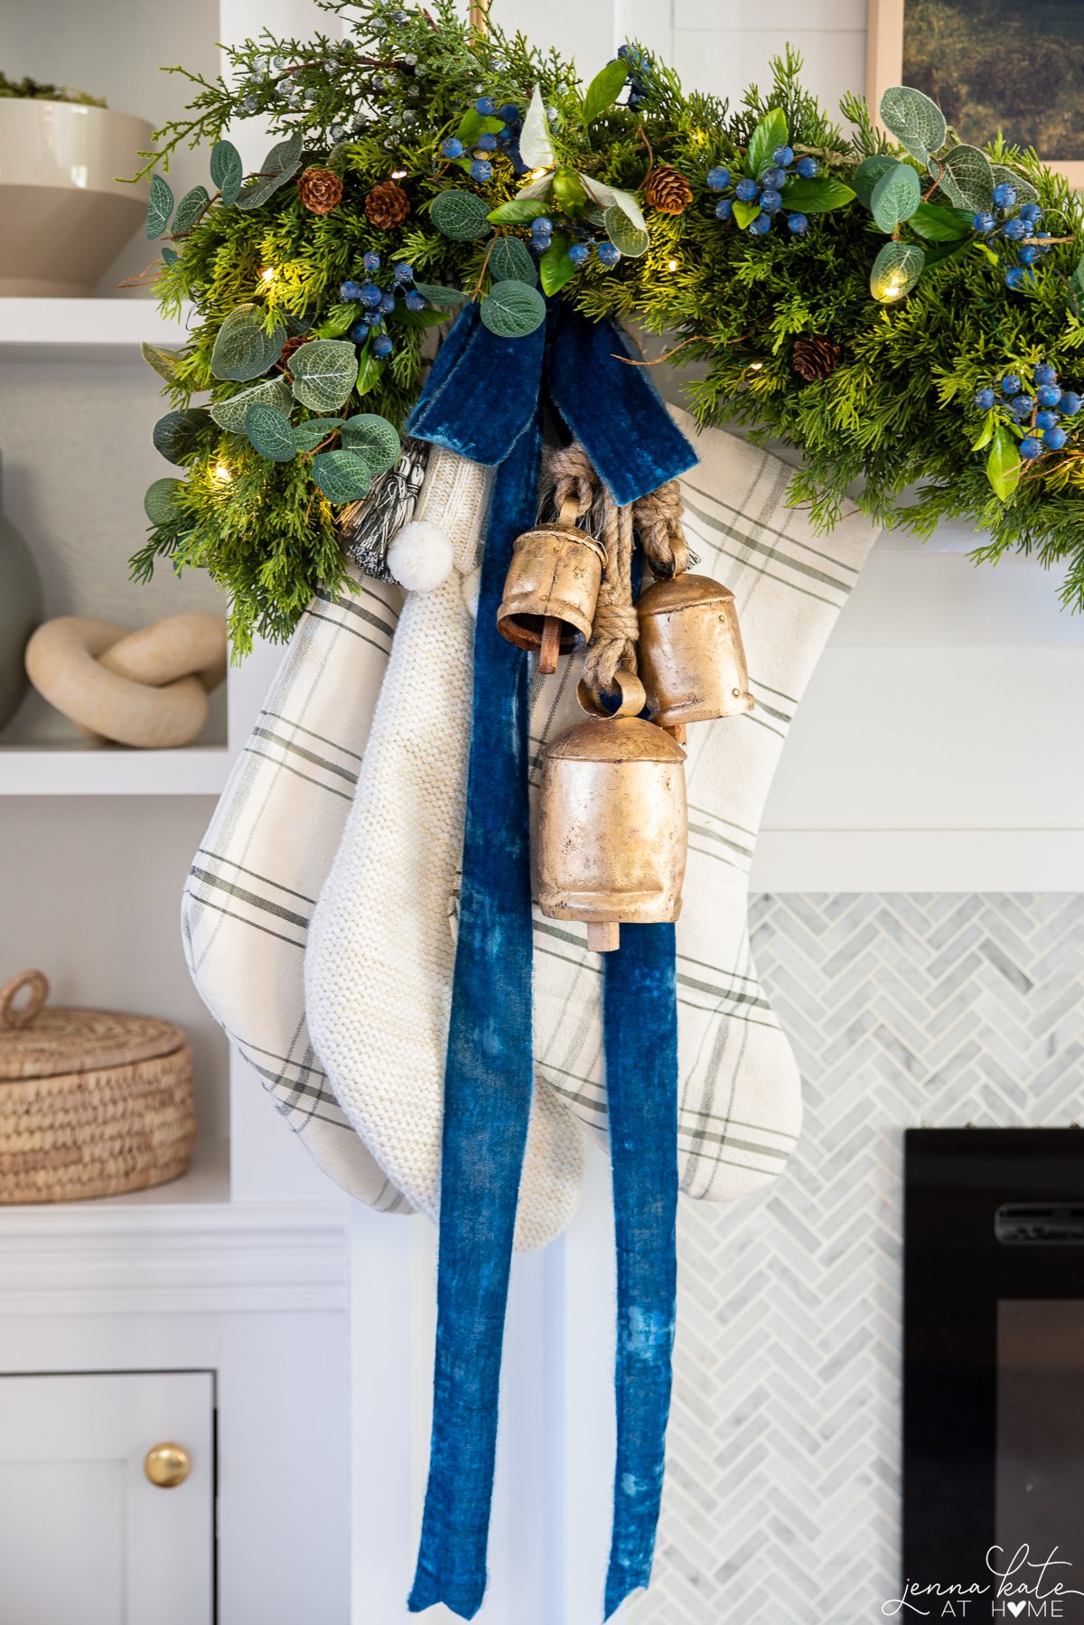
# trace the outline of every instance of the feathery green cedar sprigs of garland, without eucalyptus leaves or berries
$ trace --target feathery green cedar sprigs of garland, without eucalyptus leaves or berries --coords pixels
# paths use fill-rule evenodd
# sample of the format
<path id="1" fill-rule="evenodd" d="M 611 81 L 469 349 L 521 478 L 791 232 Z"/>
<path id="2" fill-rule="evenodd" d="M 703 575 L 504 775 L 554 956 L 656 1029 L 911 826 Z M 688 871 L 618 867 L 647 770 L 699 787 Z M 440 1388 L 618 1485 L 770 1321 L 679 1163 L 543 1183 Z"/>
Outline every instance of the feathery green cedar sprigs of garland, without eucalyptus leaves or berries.
<path id="1" fill-rule="evenodd" d="M 346 0 L 320 3 L 348 10 Z M 1064 559 L 1064 601 L 1084 603 L 1084 448 L 1071 442 L 1022 473 L 1016 468 L 1003 488 L 1008 494 L 998 496 L 983 450 L 995 422 L 975 405 L 978 388 L 1004 372 L 1027 379 L 1040 361 L 1058 369 L 1066 388 L 1084 392 L 1081 202 L 1034 153 L 999 140 L 985 148 L 993 164 L 1030 182 L 1055 237 L 1066 239 L 1048 249 L 1034 288 L 1006 289 L 998 257 L 965 226 L 957 228 L 959 239 L 925 240 L 915 231 L 920 216 L 913 226 L 900 223 L 889 240 L 923 245 L 921 276 L 905 297 L 881 304 L 869 278 L 886 232 L 850 190 L 840 192 L 842 206 L 811 213 L 804 236 L 754 237 L 715 218 L 709 169 L 739 174 L 754 132 L 774 109 L 785 117 L 795 153 L 814 156 L 822 176 L 848 185 L 863 159 L 889 154 L 918 171 L 934 214 L 946 202 L 936 190 L 941 159 L 930 159 L 928 174 L 913 148 L 904 151 L 874 127 L 856 96 L 840 107 L 845 133 L 803 89 L 796 52 L 774 62 L 765 93 L 749 89 L 730 109 L 683 91 L 673 70 L 637 46 L 622 47 L 631 94 L 614 102 L 613 68 L 585 88 L 556 52 L 538 52 L 496 26 L 479 34 L 460 20 L 453 0 L 410 11 L 393 0 L 366 0 L 361 16 L 351 8 L 351 28 L 346 41 L 270 34 L 247 41 L 231 50 L 232 84 L 187 75 L 195 86 L 190 117 L 158 132 L 158 146 L 145 154 L 143 174 L 161 177 L 179 145 L 219 143 L 221 171 L 229 158 L 224 133 L 245 114 L 263 115 L 278 141 L 294 138 L 288 158 L 296 162 L 260 206 L 245 208 L 244 190 L 241 205 L 197 197 L 185 231 L 166 245 L 169 263 L 158 273 L 163 309 L 179 315 L 184 301 L 197 307 L 185 348 L 174 358 L 148 356 L 174 410 L 190 410 L 193 396 L 208 390 L 218 405 L 258 382 L 224 382 L 211 372 L 215 340 L 237 306 L 255 302 L 268 332 L 283 327 L 291 335 L 270 377 L 288 374 L 297 340 L 340 338 L 353 309 L 340 302 L 340 284 L 364 276 L 362 255 L 377 250 L 385 268 L 413 266 L 427 309 L 398 310 L 388 322 L 395 348 L 387 361 L 377 361 L 369 344 L 361 348 L 358 385 L 333 421 L 362 411 L 401 426 L 423 384 L 426 328 L 449 320 L 463 297 L 484 301 L 496 286 L 502 237 L 530 242 L 530 205 L 517 202 L 496 219 L 492 213 L 517 200 L 523 166 L 517 172 L 509 156 L 492 153 L 492 179 L 476 182 L 465 172 L 470 158 L 449 162 L 440 143 L 457 130 L 468 146 L 476 140 L 484 125 L 470 109 L 479 94 L 523 110 L 538 86 L 556 148 L 544 213 L 554 221 L 557 252 L 540 266 L 546 294 L 572 299 L 592 318 L 616 317 L 666 335 L 673 366 L 694 369 L 687 395 L 702 424 L 738 421 L 754 439 L 800 447 L 791 499 L 808 504 L 816 523 L 832 525 L 850 500 L 923 536 L 941 518 L 964 518 L 988 533 L 973 557 L 1024 549 L 1043 564 Z M 312 164 L 345 184 L 341 203 L 327 214 L 312 214 L 297 197 L 296 176 Z M 593 257 L 572 275 L 567 232 L 603 229 L 596 200 L 583 188 L 603 184 L 642 198 L 647 176 L 661 166 L 689 182 L 687 208 L 674 214 L 645 205 L 647 245 L 639 254 L 644 244 L 631 218 L 619 218 L 621 231 L 611 231 L 622 247 L 618 265 L 606 270 Z M 411 213 L 382 231 L 366 216 L 364 200 L 393 172 Z M 484 223 L 481 236 L 437 229 L 431 208 L 450 187 L 484 203 L 492 224 Z M 635 197 L 631 210 L 637 211 Z M 947 210 L 941 214 L 947 218 Z M 509 265 L 515 260 L 504 254 Z M 533 265 L 522 271 L 523 283 L 535 280 Z M 804 379 L 795 349 L 813 338 L 829 353 L 839 348 L 839 361 L 826 375 Z M 245 652 L 254 630 L 286 637 L 312 592 L 320 585 L 333 592 L 345 577 L 335 504 L 314 484 L 307 448 L 315 448 L 319 426 L 301 440 L 309 416 L 297 424 L 291 462 L 260 457 L 244 434 L 218 429 L 206 414 L 193 419 L 171 453 L 187 473 L 174 488 L 171 517 L 151 528 L 133 561 L 143 577 L 158 557 L 177 569 L 206 567 L 231 596 L 236 653 Z M 1019 463 L 1008 431 L 1004 437 Z"/>

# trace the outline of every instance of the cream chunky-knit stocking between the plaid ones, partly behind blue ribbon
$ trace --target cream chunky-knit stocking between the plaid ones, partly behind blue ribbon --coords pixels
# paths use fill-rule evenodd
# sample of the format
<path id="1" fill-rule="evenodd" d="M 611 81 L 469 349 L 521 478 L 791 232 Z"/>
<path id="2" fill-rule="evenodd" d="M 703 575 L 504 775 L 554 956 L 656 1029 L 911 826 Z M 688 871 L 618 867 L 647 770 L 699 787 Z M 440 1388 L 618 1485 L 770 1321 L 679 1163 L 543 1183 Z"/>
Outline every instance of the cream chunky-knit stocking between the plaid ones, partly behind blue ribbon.
<path id="1" fill-rule="evenodd" d="M 306 952 L 309 1027 L 332 1087 L 388 1178 L 434 1219 L 471 726 L 465 577 L 478 562 L 489 491 L 488 470 L 432 450 L 416 518 L 440 525 L 457 567 L 403 606 Z M 569 1222 L 582 1157 L 574 1118 L 536 1087 L 518 1248 L 544 1246 Z"/>

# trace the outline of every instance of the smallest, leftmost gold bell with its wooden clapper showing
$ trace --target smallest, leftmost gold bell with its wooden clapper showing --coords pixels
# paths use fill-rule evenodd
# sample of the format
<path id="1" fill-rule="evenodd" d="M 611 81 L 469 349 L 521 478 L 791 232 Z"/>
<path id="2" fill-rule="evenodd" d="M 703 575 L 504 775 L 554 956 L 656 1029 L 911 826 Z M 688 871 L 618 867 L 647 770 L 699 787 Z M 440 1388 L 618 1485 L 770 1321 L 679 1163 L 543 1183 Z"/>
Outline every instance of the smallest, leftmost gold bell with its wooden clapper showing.
<path id="1" fill-rule="evenodd" d="M 583 648 L 592 635 L 606 549 L 570 523 L 575 500 L 554 525 L 515 538 L 497 609 L 497 630 L 517 648 L 538 650 L 538 670 L 557 670 L 557 653 Z"/>

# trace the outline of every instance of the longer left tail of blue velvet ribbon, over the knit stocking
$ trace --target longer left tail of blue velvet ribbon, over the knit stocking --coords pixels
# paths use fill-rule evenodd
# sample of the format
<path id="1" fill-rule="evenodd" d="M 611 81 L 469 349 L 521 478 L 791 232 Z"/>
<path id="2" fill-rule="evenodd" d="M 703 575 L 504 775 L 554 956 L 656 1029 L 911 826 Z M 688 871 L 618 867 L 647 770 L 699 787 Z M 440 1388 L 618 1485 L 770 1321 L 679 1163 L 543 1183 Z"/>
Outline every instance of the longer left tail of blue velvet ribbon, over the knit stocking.
<path id="1" fill-rule="evenodd" d="M 518 343 L 518 340 L 517 340 Z M 527 655 L 497 637 L 515 536 L 535 520 L 538 418 L 501 465 L 475 634 L 463 887 L 444 1081 L 429 1487 L 411 1614 L 473 1618 L 486 1589 L 501 1346 L 533 1086 Z"/>

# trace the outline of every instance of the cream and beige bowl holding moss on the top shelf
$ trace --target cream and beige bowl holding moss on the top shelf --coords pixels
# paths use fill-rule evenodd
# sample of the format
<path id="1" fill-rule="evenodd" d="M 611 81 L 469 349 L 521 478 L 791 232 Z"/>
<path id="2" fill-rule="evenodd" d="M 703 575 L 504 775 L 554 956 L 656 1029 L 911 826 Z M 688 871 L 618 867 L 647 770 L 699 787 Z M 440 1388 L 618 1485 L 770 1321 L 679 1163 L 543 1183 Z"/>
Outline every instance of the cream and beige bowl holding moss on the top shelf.
<path id="1" fill-rule="evenodd" d="M 146 218 L 151 125 L 109 107 L 0 98 L 0 296 L 89 294 Z"/>

